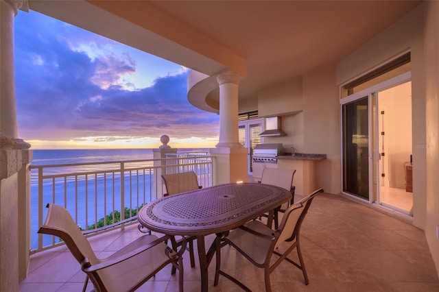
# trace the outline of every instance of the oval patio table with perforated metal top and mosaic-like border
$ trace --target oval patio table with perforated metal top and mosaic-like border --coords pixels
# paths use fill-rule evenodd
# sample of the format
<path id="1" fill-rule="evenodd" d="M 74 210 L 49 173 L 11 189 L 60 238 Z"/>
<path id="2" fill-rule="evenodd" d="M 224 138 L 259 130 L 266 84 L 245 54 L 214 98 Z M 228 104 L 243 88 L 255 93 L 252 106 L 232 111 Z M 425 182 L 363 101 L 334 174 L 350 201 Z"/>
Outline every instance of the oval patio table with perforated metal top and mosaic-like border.
<path id="1" fill-rule="evenodd" d="M 201 290 L 207 291 L 207 268 L 215 238 L 206 252 L 204 236 L 221 234 L 274 210 L 291 199 L 284 188 L 268 184 L 220 184 L 209 188 L 156 199 L 139 210 L 139 223 L 149 230 L 169 235 L 196 236 L 200 260 Z"/>

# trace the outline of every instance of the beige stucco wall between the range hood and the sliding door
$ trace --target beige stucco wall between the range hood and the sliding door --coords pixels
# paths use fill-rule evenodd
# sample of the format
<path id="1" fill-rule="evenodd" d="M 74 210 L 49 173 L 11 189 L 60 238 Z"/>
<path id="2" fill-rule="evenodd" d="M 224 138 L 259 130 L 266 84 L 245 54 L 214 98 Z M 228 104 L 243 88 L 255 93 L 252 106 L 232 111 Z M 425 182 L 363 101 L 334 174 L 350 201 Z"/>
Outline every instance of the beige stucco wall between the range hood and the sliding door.
<path id="1" fill-rule="evenodd" d="M 327 154 L 315 162 L 316 186 L 340 193 L 340 110 L 335 67 L 330 66 L 296 77 L 259 93 L 259 114 L 281 117 L 287 136 L 265 137 L 264 143 L 282 143 L 285 151 Z M 296 173 L 294 180 L 300 178 Z M 300 193 L 300 191 L 298 191 Z"/>

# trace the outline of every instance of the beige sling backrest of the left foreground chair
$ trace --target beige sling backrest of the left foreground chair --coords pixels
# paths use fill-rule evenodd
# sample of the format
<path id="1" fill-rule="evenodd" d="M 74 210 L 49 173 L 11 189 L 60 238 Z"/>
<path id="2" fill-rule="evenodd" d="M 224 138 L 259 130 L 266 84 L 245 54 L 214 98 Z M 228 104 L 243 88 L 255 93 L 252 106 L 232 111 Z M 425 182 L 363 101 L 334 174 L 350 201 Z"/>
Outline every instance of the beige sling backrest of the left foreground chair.
<path id="1" fill-rule="evenodd" d="M 80 228 L 73 221 L 69 211 L 56 204 L 47 204 L 47 208 L 49 210 L 46 221 L 40 227 L 38 233 L 60 237 L 79 263 L 82 263 L 84 258 L 88 258 L 92 265 L 99 263 L 95 252 L 91 249 L 90 243 L 88 243 Z"/>

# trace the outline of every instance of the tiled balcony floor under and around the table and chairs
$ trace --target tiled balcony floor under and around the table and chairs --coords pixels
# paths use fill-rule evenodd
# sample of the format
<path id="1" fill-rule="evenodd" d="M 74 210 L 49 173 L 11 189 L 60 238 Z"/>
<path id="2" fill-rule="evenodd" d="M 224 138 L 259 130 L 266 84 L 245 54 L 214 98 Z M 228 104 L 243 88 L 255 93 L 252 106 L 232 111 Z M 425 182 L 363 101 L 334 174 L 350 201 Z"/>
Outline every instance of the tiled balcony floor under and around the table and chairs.
<path id="1" fill-rule="evenodd" d="M 89 240 L 98 256 L 106 257 L 137 236 L 136 226 L 131 226 Z M 422 230 L 340 195 L 316 197 L 300 239 L 309 285 L 300 270 L 282 263 L 271 275 L 273 291 L 439 291 L 438 273 Z M 224 247 L 222 256 L 225 271 L 253 291 L 265 290 L 261 269 L 233 248 Z M 222 276 L 213 287 L 214 261 L 209 267 L 209 291 L 241 291 Z M 198 267 L 197 263 L 191 268 L 189 256 L 185 257 L 185 291 L 200 291 Z M 170 271 L 166 267 L 139 291 L 178 291 L 178 281 Z M 84 279 L 70 252 L 58 247 L 32 256 L 29 276 L 20 283 L 20 291 L 81 291 Z"/>

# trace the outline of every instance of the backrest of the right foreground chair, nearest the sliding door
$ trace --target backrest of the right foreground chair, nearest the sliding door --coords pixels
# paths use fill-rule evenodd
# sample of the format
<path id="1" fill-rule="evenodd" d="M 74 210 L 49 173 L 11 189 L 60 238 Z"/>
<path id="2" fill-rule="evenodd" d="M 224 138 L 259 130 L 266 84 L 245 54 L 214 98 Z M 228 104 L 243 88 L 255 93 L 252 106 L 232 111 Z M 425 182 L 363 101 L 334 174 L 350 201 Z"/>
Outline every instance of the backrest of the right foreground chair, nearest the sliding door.
<path id="1" fill-rule="evenodd" d="M 303 219 L 305 219 L 309 206 L 311 206 L 311 202 L 316 195 L 323 192 L 323 188 L 319 188 L 318 190 L 313 191 L 307 197 L 301 199 L 296 204 L 289 206 L 287 210 L 285 210 L 282 222 L 278 228 L 278 231 L 281 234 L 279 235 L 274 248 L 278 247 L 278 245 L 284 241 L 292 241 L 296 238 L 296 236 L 298 236 Z"/>

